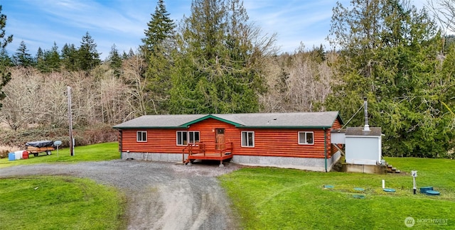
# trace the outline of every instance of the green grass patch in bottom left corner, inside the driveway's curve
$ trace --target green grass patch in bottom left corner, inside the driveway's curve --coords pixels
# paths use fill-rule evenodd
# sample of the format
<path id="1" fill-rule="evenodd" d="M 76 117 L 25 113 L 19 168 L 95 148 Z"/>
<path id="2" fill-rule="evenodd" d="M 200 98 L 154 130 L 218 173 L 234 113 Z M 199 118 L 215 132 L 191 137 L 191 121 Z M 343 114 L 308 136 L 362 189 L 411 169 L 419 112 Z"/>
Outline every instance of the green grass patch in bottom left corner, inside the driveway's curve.
<path id="1" fill-rule="evenodd" d="M 75 177 L 0 180 L 0 229 L 124 229 L 125 198 Z"/>

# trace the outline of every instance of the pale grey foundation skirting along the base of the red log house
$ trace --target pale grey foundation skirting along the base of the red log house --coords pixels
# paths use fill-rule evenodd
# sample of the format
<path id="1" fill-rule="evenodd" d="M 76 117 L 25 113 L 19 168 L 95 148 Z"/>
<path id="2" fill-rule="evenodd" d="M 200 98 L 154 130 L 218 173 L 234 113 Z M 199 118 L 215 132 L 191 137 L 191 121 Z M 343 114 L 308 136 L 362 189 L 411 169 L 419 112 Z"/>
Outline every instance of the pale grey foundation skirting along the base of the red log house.
<path id="1" fill-rule="evenodd" d="M 333 165 L 340 159 L 341 153 L 338 151 L 331 158 L 327 158 L 327 170 L 330 171 Z M 130 153 L 122 152 L 122 159 L 132 158 L 134 160 L 152 160 L 182 162 L 181 153 Z M 185 159 L 188 155 L 185 154 Z M 274 156 L 257 155 L 233 155 L 232 163 L 239 165 L 277 167 L 277 168 L 296 168 L 299 170 L 326 171 L 326 159 L 324 158 L 289 158 Z"/>

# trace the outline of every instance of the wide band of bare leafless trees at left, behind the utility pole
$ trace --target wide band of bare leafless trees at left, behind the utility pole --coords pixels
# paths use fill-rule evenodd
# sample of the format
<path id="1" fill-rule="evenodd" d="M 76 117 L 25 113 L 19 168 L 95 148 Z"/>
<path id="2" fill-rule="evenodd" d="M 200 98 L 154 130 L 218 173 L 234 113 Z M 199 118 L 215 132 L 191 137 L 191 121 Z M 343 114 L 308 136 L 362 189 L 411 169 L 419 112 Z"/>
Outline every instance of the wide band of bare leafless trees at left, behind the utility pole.
<path id="1" fill-rule="evenodd" d="M 14 130 L 36 125 L 67 126 L 67 86 L 73 92 L 75 126 L 118 124 L 137 115 L 131 106 L 137 101 L 135 91 L 103 65 L 90 76 L 85 72 L 43 74 L 33 68 L 11 68 L 11 76 L 4 87 L 6 99 L 0 119 Z"/>

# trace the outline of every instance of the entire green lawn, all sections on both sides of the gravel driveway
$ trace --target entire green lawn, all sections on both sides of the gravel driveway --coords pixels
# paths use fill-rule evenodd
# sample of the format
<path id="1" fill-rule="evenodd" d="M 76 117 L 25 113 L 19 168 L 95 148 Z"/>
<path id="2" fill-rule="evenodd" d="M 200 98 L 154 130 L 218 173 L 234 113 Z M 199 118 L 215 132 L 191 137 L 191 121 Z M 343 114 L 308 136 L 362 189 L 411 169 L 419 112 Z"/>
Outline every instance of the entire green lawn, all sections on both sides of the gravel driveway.
<path id="1" fill-rule="evenodd" d="M 31 163 L 118 159 L 117 143 L 68 149 L 28 160 L 0 159 L 0 168 Z M 244 168 L 219 177 L 242 229 L 455 229 L 454 160 L 386 158 L 405 173 L 370 175 Z M 216 170 L 216 169 L 214 169 Z M 433 186 L 440 196 L 412 194 Z M 382 191 L 382 180 L 393 193 Z M 323 185 L 333 185 L 326 189 Z M 355 187 L 365 189 L 363 192 Z M 35 190 L 35 188 L 37 188 Z M 354 195 L 363 195 L 364 199 Z M 124 197 L 111 187 L 73 177 L 0 180 L 0 229 L 122 229 Z M 33 197 L 33 199 L 31 199 Z M 437 224 L 436 221 L 442 221 Z"/>

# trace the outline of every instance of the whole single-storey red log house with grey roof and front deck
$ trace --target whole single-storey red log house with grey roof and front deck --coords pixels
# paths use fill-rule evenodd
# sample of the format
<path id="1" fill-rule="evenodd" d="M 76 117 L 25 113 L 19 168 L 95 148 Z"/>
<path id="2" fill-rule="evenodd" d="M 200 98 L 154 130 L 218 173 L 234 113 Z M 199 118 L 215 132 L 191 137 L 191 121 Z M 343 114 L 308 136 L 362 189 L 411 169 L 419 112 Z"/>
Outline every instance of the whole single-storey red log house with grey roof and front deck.
<path id="1" fill-rule="evenodd" d="M 114 126 L 122 158 L 232 160 L 304 170 L 330 170 L 340 158 L 331 130 L 338 111 L 277 114 L 146 115 Z"/>

